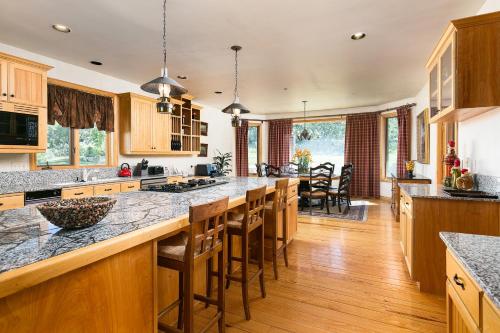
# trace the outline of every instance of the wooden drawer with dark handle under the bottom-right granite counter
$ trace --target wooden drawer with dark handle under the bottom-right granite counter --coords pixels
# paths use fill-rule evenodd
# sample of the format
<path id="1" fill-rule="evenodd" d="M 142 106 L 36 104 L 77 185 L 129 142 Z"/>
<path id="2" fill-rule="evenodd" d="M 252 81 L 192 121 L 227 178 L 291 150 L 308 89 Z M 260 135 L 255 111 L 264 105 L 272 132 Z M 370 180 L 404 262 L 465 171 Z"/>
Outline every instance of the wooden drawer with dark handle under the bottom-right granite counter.
<path id="1" fill-rule="evenodd" d="M 446 276 L 472 319 L 479 326 L 481 291 L 448 250 L 446 250 Z"/>

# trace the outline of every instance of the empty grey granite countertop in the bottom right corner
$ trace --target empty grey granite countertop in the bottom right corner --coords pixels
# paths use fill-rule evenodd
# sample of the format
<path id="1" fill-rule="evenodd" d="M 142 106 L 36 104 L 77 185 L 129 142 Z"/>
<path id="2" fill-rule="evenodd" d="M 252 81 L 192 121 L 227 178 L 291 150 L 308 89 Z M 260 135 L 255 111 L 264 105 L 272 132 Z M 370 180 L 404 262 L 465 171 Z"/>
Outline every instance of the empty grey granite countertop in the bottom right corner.
<path id="1" fill-rule="evenodd" d="M 500 237 L 440 232 L 439 236 L 467 272 L 500 308 Z"/>

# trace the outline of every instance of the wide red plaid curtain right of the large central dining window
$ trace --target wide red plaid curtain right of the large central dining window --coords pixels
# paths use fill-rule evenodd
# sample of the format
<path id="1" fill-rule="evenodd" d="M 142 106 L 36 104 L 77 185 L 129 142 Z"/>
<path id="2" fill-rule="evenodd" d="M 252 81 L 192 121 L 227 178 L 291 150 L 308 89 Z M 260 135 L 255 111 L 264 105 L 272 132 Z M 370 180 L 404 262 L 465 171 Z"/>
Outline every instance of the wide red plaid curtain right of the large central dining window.
<path id="1" fill-rule="evenodd" d="M 347 116 L 344 163 L 354 166 L 353 196 L 380 197 L 379 127 L 378 113 Z"/>

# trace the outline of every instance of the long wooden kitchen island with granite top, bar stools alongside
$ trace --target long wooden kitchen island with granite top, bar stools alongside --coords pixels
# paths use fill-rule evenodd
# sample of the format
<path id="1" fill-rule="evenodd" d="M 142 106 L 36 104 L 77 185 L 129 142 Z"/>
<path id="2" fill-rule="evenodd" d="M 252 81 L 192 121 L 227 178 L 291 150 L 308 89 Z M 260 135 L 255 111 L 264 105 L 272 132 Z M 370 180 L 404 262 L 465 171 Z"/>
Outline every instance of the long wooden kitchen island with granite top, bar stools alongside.
<path id="1" fill-rule="evenodd" d="M 157 241 L 188 225 L 190 205 L 229 196 L 235 208 L 249 189 L 266 185 L 273 193 L 275 181 L 229 178 L 187 193 L 121 193 L 99 224 L 74 231 L 50 224 L 34 206 L 1 212 L 0 331 L 156 331 L 157 308 L 177 293 L 175 279 L 156 267 Z M 202 289 L 204 278 L 197 280 Z"/>

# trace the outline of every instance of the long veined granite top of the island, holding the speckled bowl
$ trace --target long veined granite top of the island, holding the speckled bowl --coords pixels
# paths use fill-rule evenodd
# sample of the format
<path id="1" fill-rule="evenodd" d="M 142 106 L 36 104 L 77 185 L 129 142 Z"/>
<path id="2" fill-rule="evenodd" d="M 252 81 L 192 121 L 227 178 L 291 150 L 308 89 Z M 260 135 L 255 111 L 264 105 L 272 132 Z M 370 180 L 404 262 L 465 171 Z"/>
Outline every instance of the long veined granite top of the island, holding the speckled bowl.
<path id="1" fill-rule="evenodd" d="M 98 224 L 63 230 L 49 223 L 35 205 L 0 212 L 0 274 L 113 237 L 188 214 L 189 206 L 224 196 L 235 199 L 249 189 L 274 186 L 277 178 L 235 178 L 229 183 L 185 193 L 129 192 Z"/>

